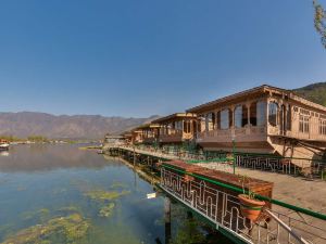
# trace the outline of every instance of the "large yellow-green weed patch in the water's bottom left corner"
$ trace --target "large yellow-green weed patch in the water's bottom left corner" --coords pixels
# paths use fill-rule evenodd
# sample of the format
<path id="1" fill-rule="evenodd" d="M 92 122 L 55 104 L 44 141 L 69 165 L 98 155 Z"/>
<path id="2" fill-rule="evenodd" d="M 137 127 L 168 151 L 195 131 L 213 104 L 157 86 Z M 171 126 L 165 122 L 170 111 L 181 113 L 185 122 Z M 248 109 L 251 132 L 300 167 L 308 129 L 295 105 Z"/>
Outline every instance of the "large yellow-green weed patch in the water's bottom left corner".
<path id="1" fill-rule="evenodd" d="M 80 215 L 73 214 L 49 220 L 46 224 L 37 224 L 20 231 L 7 239 L 3 244 L 51 244 L 78 243 L 89 229 L 89 223 Z"/>

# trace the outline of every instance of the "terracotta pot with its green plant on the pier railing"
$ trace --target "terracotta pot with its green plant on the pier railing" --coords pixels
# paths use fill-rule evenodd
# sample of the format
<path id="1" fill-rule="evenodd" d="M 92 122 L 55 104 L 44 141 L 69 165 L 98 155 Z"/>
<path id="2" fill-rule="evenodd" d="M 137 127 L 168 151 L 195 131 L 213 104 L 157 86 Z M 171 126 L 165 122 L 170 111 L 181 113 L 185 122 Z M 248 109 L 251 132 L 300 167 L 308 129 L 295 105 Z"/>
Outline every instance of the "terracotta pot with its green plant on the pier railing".
<path id="1" fill-rule="evenodd" d="M 243 193 L 238 195 L 241 215 L 255 222 L 261 215 L 262 208 L 265 206 L 265 202 L 255 198 L 255 193 L 250 190 L 250 179 L 248 177 L 241 176 L 241 181 Z M 247 192 L 246 187 L 248 189 Z"/>

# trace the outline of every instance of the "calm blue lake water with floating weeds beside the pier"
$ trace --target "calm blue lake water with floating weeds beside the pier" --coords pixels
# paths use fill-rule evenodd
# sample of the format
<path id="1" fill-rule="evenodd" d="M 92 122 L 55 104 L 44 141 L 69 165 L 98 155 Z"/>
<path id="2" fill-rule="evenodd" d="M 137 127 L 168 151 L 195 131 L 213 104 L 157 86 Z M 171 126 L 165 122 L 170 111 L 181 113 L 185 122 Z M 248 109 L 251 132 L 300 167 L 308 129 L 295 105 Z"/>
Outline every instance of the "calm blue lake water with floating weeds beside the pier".
<path id="1" fill-rule="evenodd" d="M 77 145 L 0 155 L 0 243 L 164 243 L 164 196 L 118 159 Z M 173 243 L 230 243 L 172 206 Z"/>

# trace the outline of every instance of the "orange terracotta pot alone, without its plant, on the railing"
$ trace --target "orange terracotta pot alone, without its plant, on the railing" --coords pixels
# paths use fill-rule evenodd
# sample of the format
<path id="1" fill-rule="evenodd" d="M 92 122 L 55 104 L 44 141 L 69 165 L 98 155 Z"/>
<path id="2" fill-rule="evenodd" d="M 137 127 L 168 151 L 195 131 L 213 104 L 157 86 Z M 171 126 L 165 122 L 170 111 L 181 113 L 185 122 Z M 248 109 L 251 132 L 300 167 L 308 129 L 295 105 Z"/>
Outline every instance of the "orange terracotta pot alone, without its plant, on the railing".
<path id="1" fill-rule="evenodd" d="M 266 203 L 264 201 L 249 198 L 246 194 L 238 195 L 238 198 L 240 201 L 242 216 L 255 222 Z"/>

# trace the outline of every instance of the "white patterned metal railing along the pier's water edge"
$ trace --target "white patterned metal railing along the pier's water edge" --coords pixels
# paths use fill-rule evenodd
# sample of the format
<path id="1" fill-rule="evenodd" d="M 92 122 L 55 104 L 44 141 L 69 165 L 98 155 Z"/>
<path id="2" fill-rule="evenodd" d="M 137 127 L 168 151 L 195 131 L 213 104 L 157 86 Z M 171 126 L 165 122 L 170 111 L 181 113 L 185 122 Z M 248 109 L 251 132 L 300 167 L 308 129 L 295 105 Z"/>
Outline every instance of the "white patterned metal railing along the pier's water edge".
<path id="1" fill-rule="evenodd" d="M 246 243 L 326 243 L 325 220 L 313 226 L 272 209 L 263 209 L 259 221 L 252 222 L 240 211 L 238 197 L 208 187 L 205 181 L 189 180 L 164 167 L 161 188 L 179 202 Z M 281 209 L 280 209 L 281 210 Z M 306 217 L 300 216 L 302 219 Z"/>

